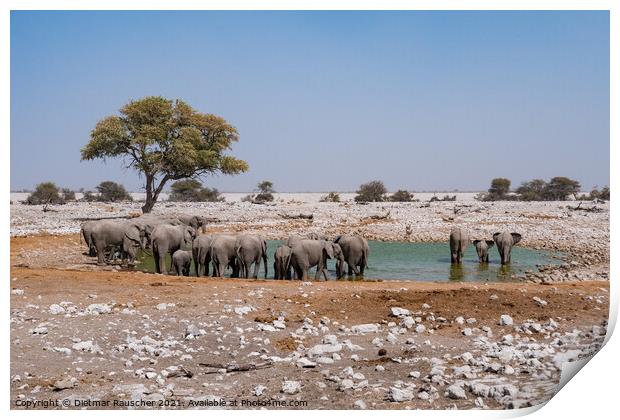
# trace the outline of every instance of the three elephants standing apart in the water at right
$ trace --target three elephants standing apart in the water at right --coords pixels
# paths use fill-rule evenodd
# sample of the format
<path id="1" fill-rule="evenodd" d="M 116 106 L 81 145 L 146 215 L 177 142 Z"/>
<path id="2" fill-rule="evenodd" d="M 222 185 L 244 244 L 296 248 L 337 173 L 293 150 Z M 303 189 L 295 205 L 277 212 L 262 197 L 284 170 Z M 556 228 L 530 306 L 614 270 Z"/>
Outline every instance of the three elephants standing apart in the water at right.
<path id="1" fill-rule="evenodd" d="M 521 240 L 521 234 L 509 232 L 497 232 L 493 235 L 493 240 L 476 239 L 471 240 L 468 232 L 461 228 L 454 228 L 450 231 L 450 261 L 453 264 L 460 264 L 463 255 L 469 244 L 473 243 L 478 254 L 478 261 L 481 263 L 489 262 L 489 249 L 497 245 L 497 251 L 502 265 L 510 264 L 510 254 L 512 247 Z"/>

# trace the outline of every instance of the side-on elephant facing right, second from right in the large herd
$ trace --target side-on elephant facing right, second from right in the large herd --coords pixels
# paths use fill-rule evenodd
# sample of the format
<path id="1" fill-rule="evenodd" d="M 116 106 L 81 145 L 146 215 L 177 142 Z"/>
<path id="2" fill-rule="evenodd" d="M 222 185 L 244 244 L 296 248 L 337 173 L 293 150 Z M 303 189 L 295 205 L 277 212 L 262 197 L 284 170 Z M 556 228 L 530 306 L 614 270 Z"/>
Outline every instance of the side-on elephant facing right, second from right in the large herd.
<path id="1" fill-rule="evenodd" d="M 320 280 L 321 274 L 327 280 L 327 260 L 336 258 L 340 267 L 344 266 L 344 257 L 340 245 L 329 241 L 304 239 L 297 242 L 291 249 L 291 266 L 295 270 L 295 278 L 307 280 L 308 270 L 316 266 L 315 280 Z"/>

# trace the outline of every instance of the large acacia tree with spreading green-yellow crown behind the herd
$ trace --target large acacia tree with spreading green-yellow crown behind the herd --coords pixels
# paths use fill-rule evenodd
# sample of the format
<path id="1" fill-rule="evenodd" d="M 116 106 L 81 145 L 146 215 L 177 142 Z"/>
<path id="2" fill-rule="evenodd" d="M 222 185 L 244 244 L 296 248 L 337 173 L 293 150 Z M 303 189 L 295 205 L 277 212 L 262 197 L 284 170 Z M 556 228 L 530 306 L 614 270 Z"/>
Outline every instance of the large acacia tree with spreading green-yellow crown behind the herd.
<path id="1" fill-rule="evenodd" d="M 149 213 L 170 180 L 247 171 L 245 161 L 226 154 L 238 140 L 237 129 L 221 117 L 197 112 L 179 99 L 149 96 L 99 121 L 82 160 L 123 158 L 144 176 L 142 211 Z"/>

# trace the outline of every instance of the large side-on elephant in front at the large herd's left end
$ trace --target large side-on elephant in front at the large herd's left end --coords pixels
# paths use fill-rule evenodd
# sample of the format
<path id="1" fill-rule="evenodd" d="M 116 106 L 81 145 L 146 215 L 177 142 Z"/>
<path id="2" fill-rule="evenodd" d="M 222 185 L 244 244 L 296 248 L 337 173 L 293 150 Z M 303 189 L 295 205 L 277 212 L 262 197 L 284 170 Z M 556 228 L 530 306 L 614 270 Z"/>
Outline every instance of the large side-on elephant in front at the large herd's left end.
<path id="1" fill-rule="evenodd" d="M 138 248 L 144 249 L 150 231 L 139 223 L 132 221 L 100 221 L 92 226 L 90 239 L 97 251 L 97 265 L 105 265 L 105 251 L 110 247 L 118 248 L 123 262 L 129 257 L 133 262 Z"/>

